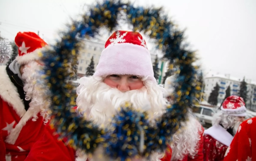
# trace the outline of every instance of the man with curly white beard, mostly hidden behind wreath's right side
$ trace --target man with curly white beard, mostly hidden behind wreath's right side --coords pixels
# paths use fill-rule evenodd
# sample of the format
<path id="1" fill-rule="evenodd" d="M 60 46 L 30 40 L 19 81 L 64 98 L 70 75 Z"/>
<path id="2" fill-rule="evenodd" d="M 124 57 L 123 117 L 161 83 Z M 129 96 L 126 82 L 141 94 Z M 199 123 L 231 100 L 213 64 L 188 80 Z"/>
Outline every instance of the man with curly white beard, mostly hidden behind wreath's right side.
<path id="1" fill-rule="evenodd" d="M 164 88 L 170 94 L 174 91 L 174 81 L 175 75 L 172 75 L 166 79 L 164 84 Z M 173 141 L 170 144 L 172 150 L 170 160 L 203 161 L 204 128 L 191 111 L 188 113 L 188 120 L 182 125 L 182 128 L 173 135 Z"/>

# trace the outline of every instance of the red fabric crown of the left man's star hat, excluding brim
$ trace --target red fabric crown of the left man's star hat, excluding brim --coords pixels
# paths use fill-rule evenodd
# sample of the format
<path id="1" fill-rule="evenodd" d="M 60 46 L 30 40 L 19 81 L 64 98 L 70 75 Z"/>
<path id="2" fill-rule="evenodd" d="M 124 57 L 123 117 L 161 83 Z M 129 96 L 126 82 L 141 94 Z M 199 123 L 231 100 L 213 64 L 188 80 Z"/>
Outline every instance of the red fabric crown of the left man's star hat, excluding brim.
<path id="1" fill-rule="evenodd" d="M 21 52 L 20 47 L 22 43 L 25 43 L 25 47 L 27 48 L 27 53 L 33 52 L 36 49 L 42 48 L 47 43 L 43 41 L 41 37 L 39 37 L 36 33 L 33 32 L 19 32 L 15 37 L 15 44 L 19 47 L 19 56 L 25 55 L 27 53 Z M 29 47 L 29 48 L 28 48 Z"/>

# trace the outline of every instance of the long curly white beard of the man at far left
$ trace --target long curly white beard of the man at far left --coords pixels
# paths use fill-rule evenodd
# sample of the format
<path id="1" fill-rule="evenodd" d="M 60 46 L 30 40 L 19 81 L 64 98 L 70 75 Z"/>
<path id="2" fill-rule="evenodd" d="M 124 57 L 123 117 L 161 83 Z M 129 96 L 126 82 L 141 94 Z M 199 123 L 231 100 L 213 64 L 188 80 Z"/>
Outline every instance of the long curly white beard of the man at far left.
<path id="1" fill-rule="evenodd" d="M 47 123 L 49 119 L 48 107 L 50 100 L 47 96 L 47 87 L 43 85 L 40 75 L 41 66 L 35 62 L 29 62 L 23 69 L 22 78 L 25 80 L 23 90 L 26 94 L 25 99 L 31 100 L 29 108 L 33 109 L 33 121 L 38 119 L 38 113 Z"/>

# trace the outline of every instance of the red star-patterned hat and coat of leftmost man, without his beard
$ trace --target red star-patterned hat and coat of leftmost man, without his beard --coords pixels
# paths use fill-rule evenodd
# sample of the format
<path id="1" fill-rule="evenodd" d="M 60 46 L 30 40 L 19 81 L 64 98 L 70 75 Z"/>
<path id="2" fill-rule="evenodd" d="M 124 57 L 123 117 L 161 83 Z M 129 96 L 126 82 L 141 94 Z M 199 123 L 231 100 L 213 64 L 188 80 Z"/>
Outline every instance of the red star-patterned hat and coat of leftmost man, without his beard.
<path id="1" fill-rule="evenodd" d="M 15 61 L 21 65 L 35 60 L 37 55 L 34 51 L 46 45 L 31 32 L 19 32 L 15 43 L 19 47 Z M 9 65 L 0 66 L 0 160 L 23 161 L 42 136 L 45 120 L 40 112 L 30 108 L 31 100 L 25 99 L 23 82 Z"/>

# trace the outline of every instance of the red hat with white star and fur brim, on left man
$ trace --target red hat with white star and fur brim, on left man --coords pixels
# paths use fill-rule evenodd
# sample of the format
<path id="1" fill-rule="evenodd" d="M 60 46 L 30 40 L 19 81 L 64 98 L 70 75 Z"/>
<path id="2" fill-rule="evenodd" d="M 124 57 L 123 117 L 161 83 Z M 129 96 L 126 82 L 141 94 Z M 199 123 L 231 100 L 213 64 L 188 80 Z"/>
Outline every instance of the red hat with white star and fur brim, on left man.
<path id="1" fill-rule="evenodd" d="M 26 64 L 40 58 L 39 50 L 47 45 L 36 33 L 19 32 L 15 37 L 15 44 L 18 46 L 19 55 L 16 60 L 20 64 Z"/>

